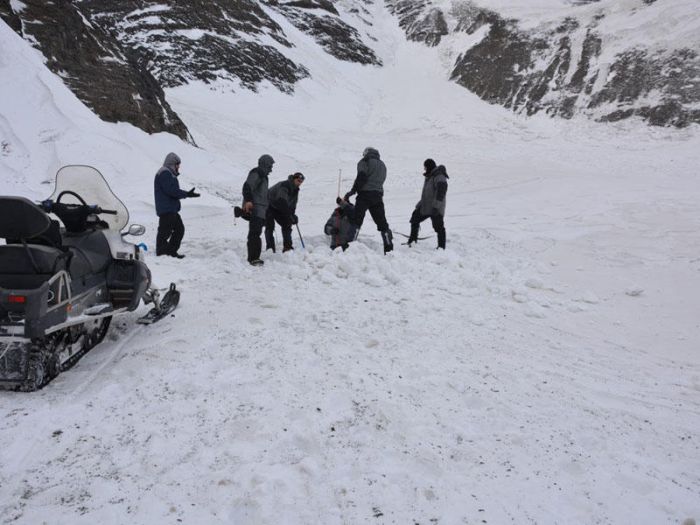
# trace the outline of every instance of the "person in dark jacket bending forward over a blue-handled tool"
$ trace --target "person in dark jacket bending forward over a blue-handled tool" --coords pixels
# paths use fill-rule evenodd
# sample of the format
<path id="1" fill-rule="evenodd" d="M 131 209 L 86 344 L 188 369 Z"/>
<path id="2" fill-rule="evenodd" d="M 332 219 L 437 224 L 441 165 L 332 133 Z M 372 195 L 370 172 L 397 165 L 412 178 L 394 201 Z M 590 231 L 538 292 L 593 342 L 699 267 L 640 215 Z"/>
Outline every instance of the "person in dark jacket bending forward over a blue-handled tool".
<path id="1" fill-rule="evenodd" d="M 292 225 L 299 222 L 296 216 L 299 188 L 304 182 L 303 173 L 294 173 L 287 180 L 274 184 L 267 193 L 269 205 L 265 218 L 265 249 L 275 253 L 275 222 L 282 229 L 282 252 L 293 250 Z"/>

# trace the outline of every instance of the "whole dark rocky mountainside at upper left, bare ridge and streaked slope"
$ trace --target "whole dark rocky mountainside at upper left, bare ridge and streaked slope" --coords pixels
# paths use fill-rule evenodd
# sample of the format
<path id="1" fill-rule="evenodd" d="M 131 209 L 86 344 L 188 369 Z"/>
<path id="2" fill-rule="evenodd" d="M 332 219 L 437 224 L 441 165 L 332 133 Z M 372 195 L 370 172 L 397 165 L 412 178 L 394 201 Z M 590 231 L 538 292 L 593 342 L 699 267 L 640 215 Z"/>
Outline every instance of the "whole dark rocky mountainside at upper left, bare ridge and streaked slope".
<path id="1" fill-rule="evenodd" d="M 281 15 L 340 60 L 381 65 L 331 0 L 24 0 L 0 17 L 32 41 L 47 66 L 107 121 L 191 140 L 163 88 L 233 80 L 285 93 L 309 72 L 275 21 Z M 362 4 L 358 4 L 361 9 Z M 358 11 L 359 12 L 359 11 Z M 277 18 L 279 20 L 279 18 Z M 286 53 L 290 50 L 290 53 Z"/>

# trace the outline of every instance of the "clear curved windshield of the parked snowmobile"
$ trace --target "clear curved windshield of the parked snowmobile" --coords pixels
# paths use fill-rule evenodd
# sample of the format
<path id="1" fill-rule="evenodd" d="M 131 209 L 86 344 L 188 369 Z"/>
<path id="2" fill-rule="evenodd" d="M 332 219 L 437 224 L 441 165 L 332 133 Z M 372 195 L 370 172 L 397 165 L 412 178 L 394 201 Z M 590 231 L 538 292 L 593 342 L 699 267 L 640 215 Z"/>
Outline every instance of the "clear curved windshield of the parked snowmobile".
<path id="1" fill-rule="evenodd" d="M 103 210 L 117 212 L 102 213 L 100 220 L 110 230 L 121 231 L 129 223 L 129 211 L 112 192 L 102 174 L 92 166 L 64 166 L 56 173 L 56 187 L 51 197 L 62 204 L 87 204 Z"/>

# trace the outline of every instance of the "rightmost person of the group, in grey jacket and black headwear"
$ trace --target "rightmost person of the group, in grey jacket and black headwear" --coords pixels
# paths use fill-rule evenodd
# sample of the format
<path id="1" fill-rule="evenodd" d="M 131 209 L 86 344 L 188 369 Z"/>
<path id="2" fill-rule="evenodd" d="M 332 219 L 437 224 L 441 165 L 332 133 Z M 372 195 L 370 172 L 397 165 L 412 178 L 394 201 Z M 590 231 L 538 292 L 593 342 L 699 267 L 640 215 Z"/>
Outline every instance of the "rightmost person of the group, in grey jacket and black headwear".
<path id="1" fill-rule="evenodd" d="M 418 240 L 420 223 L 430 218 L 433 229 L 438 236 L 438 248 L 445 249 L 445 204 L 447 200 L 447 171 L 445 166 L 436 166 L 433 159 L 426 159 L 423 163 L 423 192 L 416 209 L 411 215 L 411 234 L 408 237 L 408 245 L 411 246 Z"/>

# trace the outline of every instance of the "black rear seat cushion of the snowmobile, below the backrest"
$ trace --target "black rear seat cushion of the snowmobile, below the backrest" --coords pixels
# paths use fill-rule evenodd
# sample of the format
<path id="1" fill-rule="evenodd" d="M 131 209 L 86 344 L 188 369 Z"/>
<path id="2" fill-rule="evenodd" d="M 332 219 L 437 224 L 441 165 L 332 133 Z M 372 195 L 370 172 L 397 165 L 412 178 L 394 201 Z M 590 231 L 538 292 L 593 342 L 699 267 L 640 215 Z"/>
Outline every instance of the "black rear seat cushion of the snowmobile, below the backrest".
<path id="1" fill-rule="evenodd" d="M 15 290 L 38 288 L 56 272 L 66 269 L 68 254 L 38 244 L 0 246 L 0 287 Z"/>

